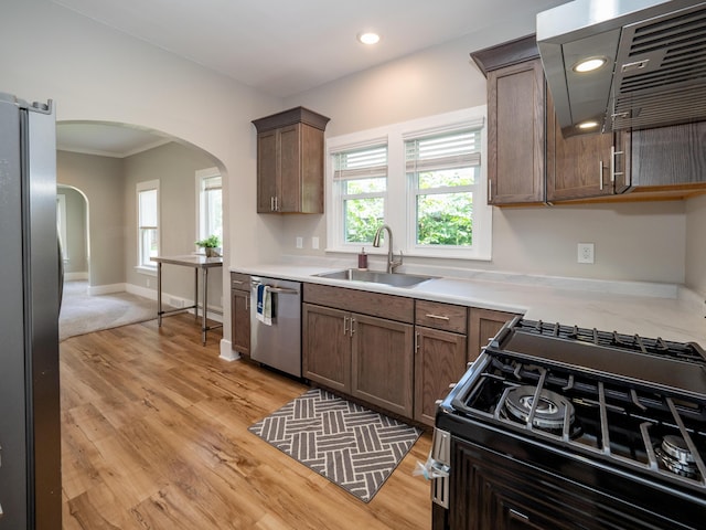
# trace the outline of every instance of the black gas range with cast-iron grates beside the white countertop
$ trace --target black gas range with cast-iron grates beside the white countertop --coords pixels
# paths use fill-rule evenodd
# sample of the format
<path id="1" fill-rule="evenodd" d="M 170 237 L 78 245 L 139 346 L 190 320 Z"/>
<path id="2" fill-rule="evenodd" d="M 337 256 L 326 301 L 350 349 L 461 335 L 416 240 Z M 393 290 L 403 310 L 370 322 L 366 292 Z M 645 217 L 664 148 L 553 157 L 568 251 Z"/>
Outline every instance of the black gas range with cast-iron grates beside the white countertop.
<path id="1" fill-rule="evenodd" d="M 706 528 L 706 353 L 516 318 L 439 406 L 435 529 Z"/>

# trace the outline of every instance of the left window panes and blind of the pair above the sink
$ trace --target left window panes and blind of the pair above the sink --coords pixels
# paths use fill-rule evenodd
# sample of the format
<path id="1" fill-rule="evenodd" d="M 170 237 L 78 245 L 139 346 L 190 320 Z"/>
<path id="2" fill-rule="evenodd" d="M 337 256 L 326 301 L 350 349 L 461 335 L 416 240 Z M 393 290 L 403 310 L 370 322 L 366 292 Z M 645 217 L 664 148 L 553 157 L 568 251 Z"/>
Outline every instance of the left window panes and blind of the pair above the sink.
<path id="1" fill-rule="evenodd" d="M 333 158 L 343 244 L 371 243 L 385 220 L 387 146 L 341 151 Z"/>

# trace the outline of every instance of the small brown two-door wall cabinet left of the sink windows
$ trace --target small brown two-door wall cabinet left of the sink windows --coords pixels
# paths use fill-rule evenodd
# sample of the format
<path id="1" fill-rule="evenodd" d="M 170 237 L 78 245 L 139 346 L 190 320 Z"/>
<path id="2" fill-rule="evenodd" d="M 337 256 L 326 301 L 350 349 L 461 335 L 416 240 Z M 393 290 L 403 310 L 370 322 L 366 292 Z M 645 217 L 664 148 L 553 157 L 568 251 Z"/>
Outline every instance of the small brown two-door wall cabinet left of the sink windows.
<path id="1" fill-rule="evenodd" d="M 257 213 L 323 213 L 323 132 L 329 118 L 296 107 L 253 120 Z"/>

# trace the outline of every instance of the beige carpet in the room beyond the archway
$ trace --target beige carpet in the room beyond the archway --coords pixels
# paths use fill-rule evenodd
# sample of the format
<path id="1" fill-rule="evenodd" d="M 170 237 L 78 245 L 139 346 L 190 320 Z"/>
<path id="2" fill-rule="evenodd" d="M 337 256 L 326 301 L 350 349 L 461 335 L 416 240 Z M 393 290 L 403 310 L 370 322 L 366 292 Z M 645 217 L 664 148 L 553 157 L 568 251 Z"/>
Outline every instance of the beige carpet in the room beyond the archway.
<path id="1" fill-rule="evenodd" d="M 66 282 L 58 317 L 58 339 L 157 318 L 157 301 L 131 295 L 88 295 L 87 282 Z"/>

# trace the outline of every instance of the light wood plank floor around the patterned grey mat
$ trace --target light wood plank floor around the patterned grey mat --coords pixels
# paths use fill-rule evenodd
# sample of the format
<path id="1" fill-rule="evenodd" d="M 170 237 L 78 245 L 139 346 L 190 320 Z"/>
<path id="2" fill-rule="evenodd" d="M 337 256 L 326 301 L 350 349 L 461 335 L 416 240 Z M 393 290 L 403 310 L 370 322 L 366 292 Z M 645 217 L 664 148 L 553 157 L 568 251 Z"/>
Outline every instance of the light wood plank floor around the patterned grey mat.
<path id="1" fill-rule="evenodd" d="M 200 338 L 184 315 L 61 343 L 65 530 L 431 527 L 428 434 L 363 504 L 247 431 L 307 386 Z"/>

